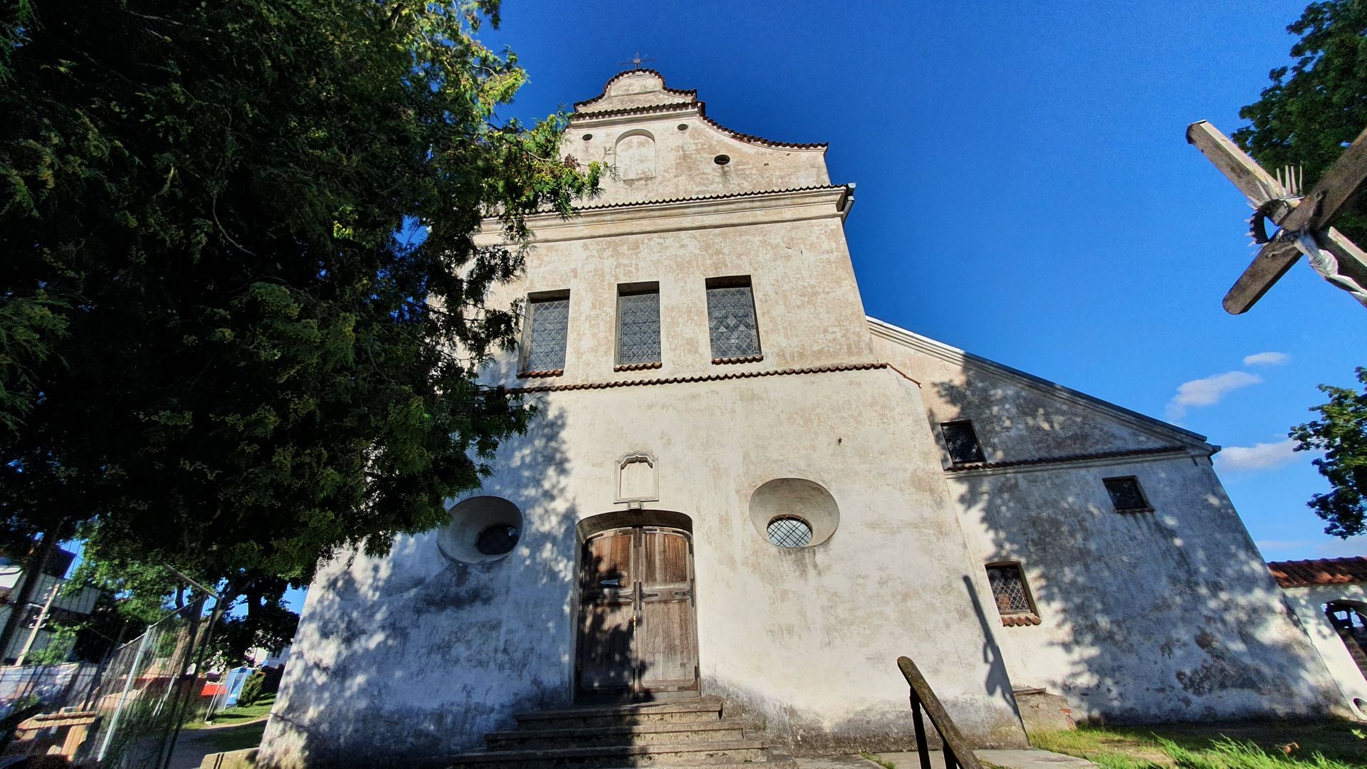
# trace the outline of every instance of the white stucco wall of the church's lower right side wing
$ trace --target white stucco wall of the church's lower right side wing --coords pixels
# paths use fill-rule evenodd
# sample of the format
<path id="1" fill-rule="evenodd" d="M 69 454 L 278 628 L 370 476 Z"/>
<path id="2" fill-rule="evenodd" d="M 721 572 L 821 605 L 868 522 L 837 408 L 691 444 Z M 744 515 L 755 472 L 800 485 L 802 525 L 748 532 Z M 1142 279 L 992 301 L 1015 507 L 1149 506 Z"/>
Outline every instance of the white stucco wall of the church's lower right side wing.
<path id="1" fill-rule="evenodd" d="M 999 634 L 1016 687 L 1107 721 L 1344 712 L 1202 436 L 872 330 L 880 357 L 921 382 L 927 423 L 971 419 L 999 464 L 945 475 L 977 562 L 1018 561 L 1039 608 L 1039 625 Z M 1152 512 L 1114 510 L 1103 479 L 1122 476 Z M 982 566 L 977 584 L 992 606 Z"/>

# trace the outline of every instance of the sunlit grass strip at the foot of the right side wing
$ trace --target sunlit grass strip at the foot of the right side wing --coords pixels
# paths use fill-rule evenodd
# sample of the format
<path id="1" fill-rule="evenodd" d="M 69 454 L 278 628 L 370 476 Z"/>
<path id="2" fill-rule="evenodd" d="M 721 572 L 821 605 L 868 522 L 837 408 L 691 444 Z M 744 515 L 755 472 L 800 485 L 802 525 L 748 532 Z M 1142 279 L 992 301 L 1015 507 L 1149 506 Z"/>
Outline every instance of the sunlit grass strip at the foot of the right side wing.
<path id="1" fill-rule="evenodd" d="M 1081 725 L 1029 738 L 1102 769 L 1367 769 L 1367 732 L 1348 721 Z"/>

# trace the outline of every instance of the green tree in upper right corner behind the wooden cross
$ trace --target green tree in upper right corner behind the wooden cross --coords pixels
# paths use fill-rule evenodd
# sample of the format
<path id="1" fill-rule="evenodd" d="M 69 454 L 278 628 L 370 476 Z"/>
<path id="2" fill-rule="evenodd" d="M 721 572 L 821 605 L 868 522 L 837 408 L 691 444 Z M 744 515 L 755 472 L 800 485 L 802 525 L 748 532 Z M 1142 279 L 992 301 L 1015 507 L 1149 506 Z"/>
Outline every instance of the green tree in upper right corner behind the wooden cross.
<path id="1" fill-rule="evenodd" d="M 1367 129 L 1367 0 L 1311 3 L 1286 30 L 1300 36 L 1296 63 L 1271 71 L 1262 99 L 1239 111 L 1251 125 L 1233 138 L 1264 168 L 1301 166 L 1308 189 Z M 1334 226 L 1367 244 L 1367 196 Z"/>

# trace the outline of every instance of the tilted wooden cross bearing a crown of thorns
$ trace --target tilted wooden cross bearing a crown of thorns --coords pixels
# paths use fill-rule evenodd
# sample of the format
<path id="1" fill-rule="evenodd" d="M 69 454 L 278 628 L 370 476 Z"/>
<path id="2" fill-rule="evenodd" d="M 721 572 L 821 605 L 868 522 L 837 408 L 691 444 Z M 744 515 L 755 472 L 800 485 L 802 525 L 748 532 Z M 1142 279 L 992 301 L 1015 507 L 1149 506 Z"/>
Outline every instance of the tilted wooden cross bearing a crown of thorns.
<path id="1" fill-rule="evenodd" d="M 1329 224 L 1367 181 L 1367 130 L 1304 196 L 1295 186 L 1286 189 L 1206 120 L 1187 126 L 1187 142 L 1195 144 L 1254 207 L 1251 234 L 1263 248 L 1225 294 L 1230 315 L 1254 307 L 1303 253 L 1322 278 L 1367 307 L 1367 253 Z M 1263 229 L 1266 222 L 1280 227 L 1271 237 Z"/>

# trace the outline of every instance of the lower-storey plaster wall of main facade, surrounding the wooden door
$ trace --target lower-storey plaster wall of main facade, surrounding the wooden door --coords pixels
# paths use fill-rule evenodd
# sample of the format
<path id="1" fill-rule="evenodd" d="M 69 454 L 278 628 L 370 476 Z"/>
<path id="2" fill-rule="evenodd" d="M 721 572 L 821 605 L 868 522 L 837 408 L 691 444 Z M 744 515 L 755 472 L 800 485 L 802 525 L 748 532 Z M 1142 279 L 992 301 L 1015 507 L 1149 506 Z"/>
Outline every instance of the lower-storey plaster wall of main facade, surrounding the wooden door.
<path id="1" fill-rule="evenodd" d="M 451 564 L 424 535 L 319 577 L 268 758 L 440 755 L 515 709 L 567 702 L 574 524 L 625 508 L 615 460 L 633 450 L 659 460 L 649 506 L 693 520 L 704 692 L 804 753 L 905 747 L 908 654 L 972 739 L 1023 744 L 928 428 L 886 430 L 923 413 L 913 384 L 889 369 L 797 374 L 551 393 L 543 408 L 481 491 L 524 510 L 513 556 Z M 830 539 L 782 550 L 755 530 L 749 497 L 774 478 L 831 493 Z"/>

